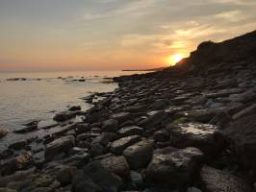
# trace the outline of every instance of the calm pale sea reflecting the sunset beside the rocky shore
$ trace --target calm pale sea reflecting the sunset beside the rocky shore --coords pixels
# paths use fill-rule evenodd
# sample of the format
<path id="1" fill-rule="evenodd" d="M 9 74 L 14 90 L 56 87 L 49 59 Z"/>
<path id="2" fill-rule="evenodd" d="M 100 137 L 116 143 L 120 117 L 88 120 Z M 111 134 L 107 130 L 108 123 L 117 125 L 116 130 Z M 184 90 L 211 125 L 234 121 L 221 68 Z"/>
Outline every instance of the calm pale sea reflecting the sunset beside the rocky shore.
<path id="1" fill-rule="evenodd" d="M 93 92 L 113 91 L 117 84 L 111 83 L 108 78 L 135 73 L 143 72 L 0 73 L 0 128 L 11 132 L 0 143 L 8 144 L 13 139 L 23 138 L 26 134 L 12 133 L 21 129 L 22 124 L 38 120 L 39 128 L 53 124 L 53 116 L 69 107 L 81 106 L 82 110 L 89 109 L 91 105 L 81 98 Z M 13 81 L 13 78 L 26 80 Z M 78 81 L 83 79 L 85 82 Z M 38 130 L 29 136 L 40 132 L 45 134 Z"/>

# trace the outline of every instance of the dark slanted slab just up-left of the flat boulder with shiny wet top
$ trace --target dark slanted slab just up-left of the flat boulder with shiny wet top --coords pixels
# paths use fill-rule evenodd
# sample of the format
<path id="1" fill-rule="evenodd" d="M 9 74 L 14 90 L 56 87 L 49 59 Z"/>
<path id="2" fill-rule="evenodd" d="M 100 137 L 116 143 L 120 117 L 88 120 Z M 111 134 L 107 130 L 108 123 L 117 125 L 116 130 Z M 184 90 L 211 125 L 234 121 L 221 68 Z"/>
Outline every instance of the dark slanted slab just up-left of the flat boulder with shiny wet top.
<path id="1" fill-rule="evenodd" d="M 166 112 L 162 110 L 142 120 L 141 122 L 139 122 L 138 125 L 142 128 L 149 128 L 149 129 L 154 128 L 157 125 L 160 125 L 161 123 L 163 123 L 166 117 L 167 117 Z"/>

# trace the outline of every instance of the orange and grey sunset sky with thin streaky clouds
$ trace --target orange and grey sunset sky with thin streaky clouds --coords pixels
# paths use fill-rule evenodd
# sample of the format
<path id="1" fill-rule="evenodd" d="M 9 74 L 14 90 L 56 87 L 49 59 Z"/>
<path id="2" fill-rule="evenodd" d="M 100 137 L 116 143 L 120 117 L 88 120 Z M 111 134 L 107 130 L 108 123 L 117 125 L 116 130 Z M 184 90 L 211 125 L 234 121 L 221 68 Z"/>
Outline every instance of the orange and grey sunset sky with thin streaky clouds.
<path id="1" fill-rule="evenodd" d="M 255 10 L 256 0 L 0 0 L 0 72 L 168 66 L 202 41 L 256 30 Z"/>

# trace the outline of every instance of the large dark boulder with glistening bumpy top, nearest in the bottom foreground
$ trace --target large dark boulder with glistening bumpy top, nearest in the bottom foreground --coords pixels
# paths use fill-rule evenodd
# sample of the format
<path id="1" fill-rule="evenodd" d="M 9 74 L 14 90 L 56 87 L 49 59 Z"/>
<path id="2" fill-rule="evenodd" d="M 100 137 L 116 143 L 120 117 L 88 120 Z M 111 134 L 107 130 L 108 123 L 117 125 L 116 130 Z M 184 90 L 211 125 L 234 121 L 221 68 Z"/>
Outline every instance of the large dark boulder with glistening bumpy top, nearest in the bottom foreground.
<path id="1" fill-rule="evenodd" d="M 146 181 L 150 184 L 186 186 L 196 175 L 202 153 L 196 148 L 176 150 L 166 154 L 154 154 L 146 169 Z"/>

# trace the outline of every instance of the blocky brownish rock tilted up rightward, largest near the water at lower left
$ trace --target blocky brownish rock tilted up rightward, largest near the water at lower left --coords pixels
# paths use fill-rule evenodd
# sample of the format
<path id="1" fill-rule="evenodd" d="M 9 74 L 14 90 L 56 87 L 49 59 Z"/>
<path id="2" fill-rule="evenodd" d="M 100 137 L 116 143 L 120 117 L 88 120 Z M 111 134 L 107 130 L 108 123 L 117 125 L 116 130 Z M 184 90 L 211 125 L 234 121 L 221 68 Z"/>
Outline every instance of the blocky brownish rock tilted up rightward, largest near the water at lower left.
<path id="1" fill-rule="evenodd" d="M 46 145 L 45 159 L 50 160 L 61 153 L 67 153 L 75 146 L 75 138 L 72 135 L 63 136 Z"/>

